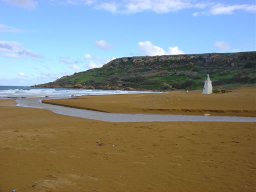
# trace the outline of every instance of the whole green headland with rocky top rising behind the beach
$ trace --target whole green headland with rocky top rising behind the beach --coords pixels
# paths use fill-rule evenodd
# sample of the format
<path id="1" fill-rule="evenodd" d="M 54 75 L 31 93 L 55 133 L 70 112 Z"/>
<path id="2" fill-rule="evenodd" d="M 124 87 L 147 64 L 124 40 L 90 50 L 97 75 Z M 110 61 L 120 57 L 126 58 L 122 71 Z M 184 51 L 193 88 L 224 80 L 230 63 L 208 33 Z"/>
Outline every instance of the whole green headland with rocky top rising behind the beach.
<path id="1" fill-rule="evenodd" d="M 36 87 L 128 90 L 196 89 L 209 73 L 215 85 L 256 83 L 256 51 L 114 59 L 100 68 L 63 76 Z M 126 86 L 118 86 L 123 83 Z"/>

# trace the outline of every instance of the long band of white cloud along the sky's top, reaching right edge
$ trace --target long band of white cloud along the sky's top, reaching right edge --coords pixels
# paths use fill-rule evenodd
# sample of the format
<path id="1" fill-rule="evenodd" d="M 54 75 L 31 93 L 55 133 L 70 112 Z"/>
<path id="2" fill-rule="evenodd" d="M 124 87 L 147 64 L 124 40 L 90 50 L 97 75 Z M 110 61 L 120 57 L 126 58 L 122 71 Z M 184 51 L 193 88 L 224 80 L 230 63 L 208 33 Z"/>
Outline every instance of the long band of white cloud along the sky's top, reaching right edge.
<path id="1" fill-rule="evenodd" d="M 193 16 L 231 14 L 235 10 L 256 12 L 255 4 L 226 5 L 210 0 L 205 2 L 203 0 L 65 0 L 65 2 L 74 5 L 89 5 L 114 14 L 133 14 L 145 11 L 163 14 L 192 8 L 204 9 L 204 11 L 195 11 Z"/>

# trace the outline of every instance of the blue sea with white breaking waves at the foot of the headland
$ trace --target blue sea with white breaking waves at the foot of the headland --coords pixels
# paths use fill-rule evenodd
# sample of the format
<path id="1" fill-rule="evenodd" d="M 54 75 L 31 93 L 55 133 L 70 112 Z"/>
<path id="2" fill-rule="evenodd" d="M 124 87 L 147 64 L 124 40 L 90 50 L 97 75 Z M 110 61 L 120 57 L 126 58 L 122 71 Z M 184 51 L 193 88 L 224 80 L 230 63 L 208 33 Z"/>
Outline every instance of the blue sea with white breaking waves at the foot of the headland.
<path id="1" fill-rule="evenodd" d="M 148 93 L 152 91 L 130 90 L 99 90 L 99 89 L 76 89 L 76 88 L 39 88 L 29 86 L 0 86 L 0 99 L 13 97 L 60 97 L 99 94 L 130 94 Z"/>

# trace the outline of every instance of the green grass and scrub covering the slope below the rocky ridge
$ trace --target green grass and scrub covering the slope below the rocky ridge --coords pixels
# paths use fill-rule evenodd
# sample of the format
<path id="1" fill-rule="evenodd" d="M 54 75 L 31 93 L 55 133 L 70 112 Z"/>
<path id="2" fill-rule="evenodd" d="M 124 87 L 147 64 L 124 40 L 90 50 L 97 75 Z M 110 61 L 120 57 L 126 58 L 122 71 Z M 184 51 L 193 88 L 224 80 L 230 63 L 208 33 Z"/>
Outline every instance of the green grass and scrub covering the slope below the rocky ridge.
<path id="1" fill-rule="evenodd" d="M 94 68 L 74 73 L 57 79 L 54 83 L 60 85 L 86 84 L 97 88 L 105 84 L 117 86 L 118 83 L 126 83 L 127 87 L 135 89 L 160 90 L 161 88 L 169 88 L 166 84 L 170 86 L 177 85 L 190 79 L 192 84 L 187 84 L 186 89 L 192 90 L 203 87 L 207 73 L 209 73 L 213 84 L 226 85 L 230 88 L 235 85 L 251 84 L 256 81 L 256 65 L 253 65 L 253 59 L 256 58 L 255 52 L 246 54 L 220 53 L 219 55 L 223 58 L 228 57 L 228 59 L 233 55 L 238 56 L 235 57 L 236 60 L 232 60 L 234 66 L 231 66 L 225 60 L 206 63 L 206 59 L 202 56 L 191 58 L 189 61 L 160 59 L 153 63 L 143 61 L 143 65 L 133 63 L 131 60 L 121 61 L 117 65 L 111 65 L 111 67 Z M 239 60 L 239 58 L 244 59 L 247 56 L 252 60 L 249 61 L 253 62 L 250 67 L 245 67 L 246 62 Z M 234 82 L 235 85 L 230 84 L 230 82 Z M 183 87 L 183 85 L 178 87 Z"/>

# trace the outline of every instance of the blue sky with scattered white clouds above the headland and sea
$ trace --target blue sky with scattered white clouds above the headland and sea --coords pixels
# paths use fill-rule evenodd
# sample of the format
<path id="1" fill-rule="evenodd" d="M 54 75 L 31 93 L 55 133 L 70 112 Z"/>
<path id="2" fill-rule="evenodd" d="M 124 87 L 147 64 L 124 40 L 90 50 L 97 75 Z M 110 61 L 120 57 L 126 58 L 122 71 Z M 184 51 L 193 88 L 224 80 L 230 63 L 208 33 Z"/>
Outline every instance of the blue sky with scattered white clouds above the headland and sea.
<path id="1" fill-rule="evenodd" d="M 0 0 L 0 85 L 114 58 L 256 50 L 255 0 Z"/>

